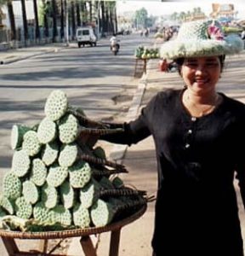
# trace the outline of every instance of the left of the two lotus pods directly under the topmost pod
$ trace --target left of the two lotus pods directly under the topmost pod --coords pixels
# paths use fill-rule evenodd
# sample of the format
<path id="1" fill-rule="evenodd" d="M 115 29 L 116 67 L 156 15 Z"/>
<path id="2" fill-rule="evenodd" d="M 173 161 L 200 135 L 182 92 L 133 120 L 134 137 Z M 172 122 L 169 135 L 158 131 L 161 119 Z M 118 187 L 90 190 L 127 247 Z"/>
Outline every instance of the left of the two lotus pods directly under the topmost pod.
<path id="1" fill-rule="evenodd" d="M 44 118 L 37 129 L 37 137 L 40 143 L 47 144 L 56 137 L 56 124 L 54 121 Z"/>

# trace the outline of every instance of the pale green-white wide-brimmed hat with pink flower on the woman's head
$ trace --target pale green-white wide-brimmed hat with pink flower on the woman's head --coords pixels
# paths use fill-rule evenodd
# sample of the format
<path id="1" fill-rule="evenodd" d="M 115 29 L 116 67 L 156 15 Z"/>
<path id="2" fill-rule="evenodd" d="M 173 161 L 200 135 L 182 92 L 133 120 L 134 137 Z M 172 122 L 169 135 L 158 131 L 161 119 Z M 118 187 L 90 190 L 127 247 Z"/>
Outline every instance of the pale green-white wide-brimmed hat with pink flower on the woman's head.
<path id="1" fill-rule="evenodd" d="M 160 55 L 166 59 L 232 55 L 243 45 L 236 34 L 225 36 L 218 20 L 195 20 L 183 23 L 177 38 L 162 44 Z"/>

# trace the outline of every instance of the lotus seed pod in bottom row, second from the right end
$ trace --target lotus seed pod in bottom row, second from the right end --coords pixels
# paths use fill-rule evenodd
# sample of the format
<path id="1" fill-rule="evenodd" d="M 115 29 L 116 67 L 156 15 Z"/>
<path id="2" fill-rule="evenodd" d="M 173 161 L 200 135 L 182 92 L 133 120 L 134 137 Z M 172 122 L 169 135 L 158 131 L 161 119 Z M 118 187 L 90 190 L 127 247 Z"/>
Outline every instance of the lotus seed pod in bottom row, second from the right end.
<path id="1" fill-rule="evenodd" d="M 88 209 L 84 208 L 82 204 L 76 204 L 75 207 L 73 207 L 73 223 L 82 229 L 88 228 L 90 225 L 90 216 Z"/>

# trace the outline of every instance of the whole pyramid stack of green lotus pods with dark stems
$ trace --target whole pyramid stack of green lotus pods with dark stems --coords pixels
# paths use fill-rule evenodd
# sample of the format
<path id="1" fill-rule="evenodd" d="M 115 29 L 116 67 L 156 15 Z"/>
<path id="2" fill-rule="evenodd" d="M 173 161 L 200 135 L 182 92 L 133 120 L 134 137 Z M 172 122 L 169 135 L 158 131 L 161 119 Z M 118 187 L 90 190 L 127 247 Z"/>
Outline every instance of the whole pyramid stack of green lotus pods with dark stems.
<path id="1" fill-rule="evenodd" d="M 96 146 L 101 135 L 122 132 L 88 119 L 53 90 L 44 118 L 13 125 L 11 169 L 3 177 L 0 228 L 20 231 L 86 229 L 110 224 L 145 204 L 145 191 L 119 177 L 125 166 L 107 160 Z"/>

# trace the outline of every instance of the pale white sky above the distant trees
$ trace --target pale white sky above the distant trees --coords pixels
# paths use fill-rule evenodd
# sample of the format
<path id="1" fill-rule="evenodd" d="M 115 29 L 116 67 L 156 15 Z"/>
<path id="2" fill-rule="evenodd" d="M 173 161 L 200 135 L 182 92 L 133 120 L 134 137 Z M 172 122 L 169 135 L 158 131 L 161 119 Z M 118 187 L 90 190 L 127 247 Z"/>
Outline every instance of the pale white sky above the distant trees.
<path id="1" fill-rule="evenodd" d="M 168 1 L 160 2 L 159 0 L 148 0 L 148 1 L 139 1 L 139 0 L 117 0 L 117 14 L 122 14 L 125 11 L 132 11 L 141 9 L 144 7 L 147 9 L 149 15 L 171 15 L 174 11 L 180 13 L 181 11 L 192 11 L 194 8 L 200 7 L 202 11 L 209 15 L 212 12 L 212 3 L 233 3 L 235 10 L 238 11 L 237 18 L 245 19 L 245 1 L 236 0 L 236 1 L 223 1 L 223 0 L 202 0 L 199 1 Z M 243 3 L 242 3 L 243 2 Z"/>

